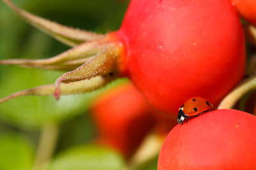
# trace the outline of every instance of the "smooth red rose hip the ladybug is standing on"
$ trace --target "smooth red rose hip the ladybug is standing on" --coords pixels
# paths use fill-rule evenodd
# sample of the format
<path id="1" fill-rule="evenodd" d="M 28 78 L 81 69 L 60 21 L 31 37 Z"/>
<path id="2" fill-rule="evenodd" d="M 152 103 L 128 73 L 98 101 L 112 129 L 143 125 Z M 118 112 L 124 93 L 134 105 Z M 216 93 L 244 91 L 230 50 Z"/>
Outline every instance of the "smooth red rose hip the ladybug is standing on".
<path id="1" fill-rule="evenodd" d="M 238 110 L 191 118 L 170 131 L 157 169 L 255 169 L 255 125 L 255 116 Z"/>

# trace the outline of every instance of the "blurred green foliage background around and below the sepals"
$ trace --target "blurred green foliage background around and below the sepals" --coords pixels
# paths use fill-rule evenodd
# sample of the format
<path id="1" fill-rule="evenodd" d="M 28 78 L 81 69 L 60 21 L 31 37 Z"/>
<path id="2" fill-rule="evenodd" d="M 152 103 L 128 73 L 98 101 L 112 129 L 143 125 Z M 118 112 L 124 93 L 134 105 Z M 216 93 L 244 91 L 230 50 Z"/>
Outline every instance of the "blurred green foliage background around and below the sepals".
<path id="1" fill-rule="evenodd" d="M 100 33 L 118 29 L 128 5 L 127 1 L 116 0 L 13 0 L 13 3 L 60 24 Z M 3 1 L 0 1 L 0 23 L 0 59 L 43 59 L 70 48 L 24 22 Z M 61 71 L 0 66 L 0 97 L 54 83 L 61 74 Z M 127 80 L 117 80 L 88 94 L 63 96 L 60 101 L 54 97 L 28 96 L 0 104 L 0 169 L 123 169 L 122 155 L 92 144 L 97 130 L 89 114 L 93 97 L 121 81 Z M 42 161 L 49 166 L 42 166 Z M 150 162 L 145 169 L 156 169 L 156 162 Z"/>

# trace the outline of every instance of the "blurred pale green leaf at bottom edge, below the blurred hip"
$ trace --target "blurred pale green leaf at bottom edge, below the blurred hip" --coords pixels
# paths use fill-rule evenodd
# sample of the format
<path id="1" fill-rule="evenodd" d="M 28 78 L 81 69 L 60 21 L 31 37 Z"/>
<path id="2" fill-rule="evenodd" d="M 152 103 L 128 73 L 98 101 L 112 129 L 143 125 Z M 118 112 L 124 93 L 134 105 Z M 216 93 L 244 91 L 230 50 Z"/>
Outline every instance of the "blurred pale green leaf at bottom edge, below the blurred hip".
<path id="1" fill-rule="evenodd" d="M 120 170 L 124 160 L 112 150 L 96 145 L 77 146 L 61 153 L 50 164 L 50 170 Z"/>

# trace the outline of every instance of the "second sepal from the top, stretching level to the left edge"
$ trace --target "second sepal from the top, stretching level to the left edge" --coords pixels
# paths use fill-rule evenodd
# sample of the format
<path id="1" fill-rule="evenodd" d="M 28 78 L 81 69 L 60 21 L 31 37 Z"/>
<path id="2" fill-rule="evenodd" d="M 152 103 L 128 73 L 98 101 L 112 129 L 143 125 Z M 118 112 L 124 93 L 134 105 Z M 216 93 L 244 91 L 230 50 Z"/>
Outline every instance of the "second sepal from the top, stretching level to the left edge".
<path id="1" fill-rule="evenodd" d="M 49 59 L 8 59 L 0 60 L 0 64 L 9 64 L 20 67 L 36 67 L 41 69 L 65 69 L 71 71 L 92 59 L 92 57 L 105 48 L 108 48 L 108 46 L 108 39 L 104 38 L 83 43 L 71 48 L 67 52 L 60 53 Z"/>

